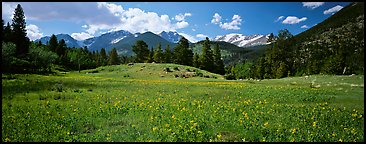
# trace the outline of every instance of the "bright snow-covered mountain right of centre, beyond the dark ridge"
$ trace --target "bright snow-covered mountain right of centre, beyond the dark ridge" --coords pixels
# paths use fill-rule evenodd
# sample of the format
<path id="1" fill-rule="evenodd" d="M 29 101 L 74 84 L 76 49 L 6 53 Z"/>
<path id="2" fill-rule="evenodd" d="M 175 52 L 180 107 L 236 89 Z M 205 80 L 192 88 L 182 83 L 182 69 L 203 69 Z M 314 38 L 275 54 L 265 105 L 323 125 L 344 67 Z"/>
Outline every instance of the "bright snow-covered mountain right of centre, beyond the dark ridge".
<path id="1" fill-rule="evenodd" d="M 216 38 L 214 38 L 213 41 L 224 41 L 235 44 L 239 47 L 250 47 L 256 45 L 268 44 L 267 43 L 268 36 L 269 35 L 260 35 L 260 34 L 245 36 L 243 34 L 231 33 L 223 36 L 216 36 Z"/>

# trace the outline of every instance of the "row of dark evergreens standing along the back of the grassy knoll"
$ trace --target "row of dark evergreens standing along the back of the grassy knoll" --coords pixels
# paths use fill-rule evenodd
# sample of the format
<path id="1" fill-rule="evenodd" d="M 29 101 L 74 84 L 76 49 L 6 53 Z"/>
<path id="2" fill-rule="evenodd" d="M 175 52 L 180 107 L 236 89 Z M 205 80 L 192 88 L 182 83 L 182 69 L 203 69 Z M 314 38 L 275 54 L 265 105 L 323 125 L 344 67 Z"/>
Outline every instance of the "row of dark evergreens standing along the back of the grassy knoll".
<path id="1" fill-rule="evenodd" d="M 132 51 L 136 54 L 134 62 L 137 63 L 175 63 L 197 67 L 221 75 L 225 74 L 219 45 L 216 44 L 212 51 L 208 38 L 204 41 L 201 55 L 193 53 L 188 40 L 184 37 L 179 40 L 173 50 L 170 50 L 170 46 L 167 45 L 164 51 L 161 44 L 158 44 L 155 50 L 154 48 L 150 50 L 143 40 L 138 40 L 132 46 Z"/>

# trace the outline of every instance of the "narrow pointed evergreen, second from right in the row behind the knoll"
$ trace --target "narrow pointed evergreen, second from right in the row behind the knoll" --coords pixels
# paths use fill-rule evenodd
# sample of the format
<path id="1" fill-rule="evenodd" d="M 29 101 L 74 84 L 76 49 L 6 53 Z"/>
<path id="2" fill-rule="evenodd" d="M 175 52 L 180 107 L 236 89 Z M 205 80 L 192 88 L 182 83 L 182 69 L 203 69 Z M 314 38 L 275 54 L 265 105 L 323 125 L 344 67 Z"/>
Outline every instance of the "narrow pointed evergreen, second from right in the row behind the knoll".
<path id="1" fill-rule="evenodd" d="M 206 37 L 203 42 L 202 55 L 200 56 L 200 68 L 212 72 L 214 61 L 213 55 L 210 47 L 210 40 Z"/>

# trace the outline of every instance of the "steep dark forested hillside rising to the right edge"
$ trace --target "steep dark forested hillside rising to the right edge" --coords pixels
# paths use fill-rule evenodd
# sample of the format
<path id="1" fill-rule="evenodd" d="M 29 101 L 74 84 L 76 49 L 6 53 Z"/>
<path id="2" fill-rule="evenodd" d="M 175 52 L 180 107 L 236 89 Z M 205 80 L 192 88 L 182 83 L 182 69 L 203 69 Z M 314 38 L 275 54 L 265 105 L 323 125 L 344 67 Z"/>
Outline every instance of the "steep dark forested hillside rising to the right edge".
<path id="1" fill-rule="evenodd" d="M 269 41 L 265 56 L 228 67 L 227 78 L 364 74 L 364 3 L 351 3 L 296 36 L 280 30 Z M 243 71 L 246 75 L 238 76 Z"/>

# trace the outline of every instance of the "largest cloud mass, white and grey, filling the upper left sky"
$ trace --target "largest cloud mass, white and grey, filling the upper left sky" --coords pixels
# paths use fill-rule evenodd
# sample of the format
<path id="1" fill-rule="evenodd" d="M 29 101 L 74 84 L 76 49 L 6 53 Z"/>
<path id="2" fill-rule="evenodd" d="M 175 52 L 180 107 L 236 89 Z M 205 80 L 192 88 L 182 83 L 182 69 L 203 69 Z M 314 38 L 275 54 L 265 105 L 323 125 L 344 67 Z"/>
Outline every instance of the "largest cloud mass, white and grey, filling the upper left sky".
<path id="1" fill-rule="evenodd" d="M 10 19 L 18 3 L 5 2 L 2 4 L 3 18 L 9 17 Z M 178 18 L 181 21 L 172 22 L 171 18 L 166 14 L 148 12 L 139 8 L 124 9 L 119 4 L 109 2 L 73 2 L 72 4 L 65 2 L 20 2 L 20 4 L 27 17 L 33 21 L 47 22 L 60 20 L 82 23 L 83 25 L 81 27 L 83 30 L 74 33 L 74 36 L 79 39 L 85 39 L 83 37 L 89 37 L 90 35 L 97 36 L 101 31 L 126 30 L 131 33 L 176 31 L 177 29 L 189 26 L 189 23 L 184 21 L 184 19 L 192 16 L 191 13 L 184 13 L 182 14 L 184 18 Z M 9 10 L 6 11 L 5 9 Z M 8 14 L 6 15 L 6 13 Z M 53 33 L 60 32 L 54 31 Z"/>

